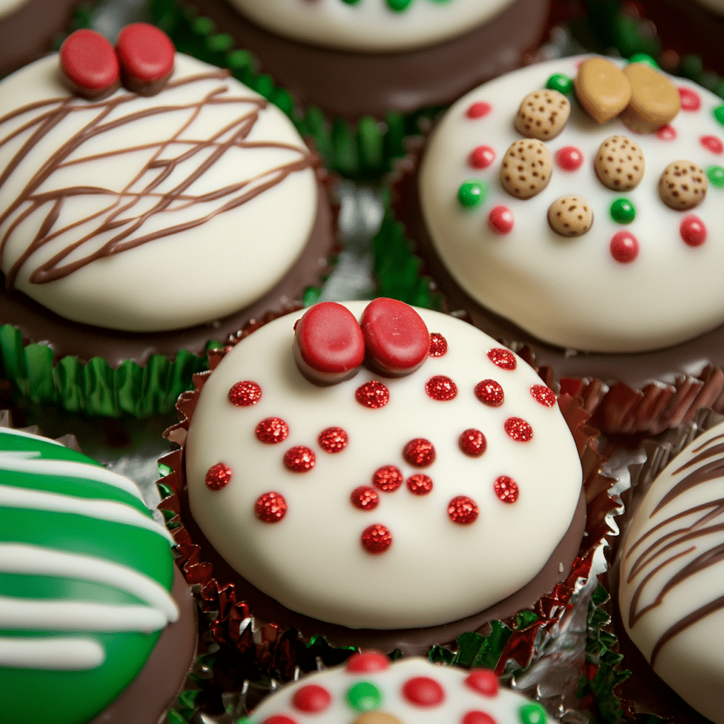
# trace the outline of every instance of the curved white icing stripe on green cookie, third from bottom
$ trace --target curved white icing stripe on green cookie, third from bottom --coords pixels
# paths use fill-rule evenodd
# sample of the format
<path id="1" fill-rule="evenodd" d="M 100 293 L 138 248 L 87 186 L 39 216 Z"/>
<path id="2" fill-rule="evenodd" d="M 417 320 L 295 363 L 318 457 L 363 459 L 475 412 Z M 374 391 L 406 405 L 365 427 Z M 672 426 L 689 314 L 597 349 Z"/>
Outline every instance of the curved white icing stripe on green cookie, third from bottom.
<path id="1" fill-rule="evenodd" d="M 161 584 L 125 565 L 88 555 L 21 543 L 0 543 L 0 573 L 66 576 L 114 586 L 161 610 L 169 621 L 179 617 L 176 602 Z"/>

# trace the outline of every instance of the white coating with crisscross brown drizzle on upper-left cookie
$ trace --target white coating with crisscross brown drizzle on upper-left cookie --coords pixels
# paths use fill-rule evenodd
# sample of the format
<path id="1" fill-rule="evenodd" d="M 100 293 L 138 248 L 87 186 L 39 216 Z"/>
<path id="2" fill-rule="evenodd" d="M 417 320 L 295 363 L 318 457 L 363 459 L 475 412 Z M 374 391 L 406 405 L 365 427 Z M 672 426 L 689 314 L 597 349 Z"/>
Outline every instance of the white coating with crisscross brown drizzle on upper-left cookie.
<path id="1" fill-rule="evenodd" d="M 56 55 L 0 84 L 0 266 L 85 324 L 180 329 L 248 306 L 317 210 L 311 154 L 275 106 L 176 55 L 156 96 L 72 97 Z"/>

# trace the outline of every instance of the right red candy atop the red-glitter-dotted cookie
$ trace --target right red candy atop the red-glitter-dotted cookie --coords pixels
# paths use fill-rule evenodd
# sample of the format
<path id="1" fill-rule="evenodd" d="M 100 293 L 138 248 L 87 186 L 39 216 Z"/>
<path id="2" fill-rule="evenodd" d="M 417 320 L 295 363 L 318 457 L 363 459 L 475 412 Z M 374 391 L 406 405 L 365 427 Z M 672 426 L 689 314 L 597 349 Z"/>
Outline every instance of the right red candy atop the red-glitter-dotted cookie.
<path id="1" fill-rule="evenodd" d="M 367 358 L 384 374 L 411 374 L 425 361 L 430 334 L 422 317 L 396 299 L 371 301 L 362 314 Z"/>

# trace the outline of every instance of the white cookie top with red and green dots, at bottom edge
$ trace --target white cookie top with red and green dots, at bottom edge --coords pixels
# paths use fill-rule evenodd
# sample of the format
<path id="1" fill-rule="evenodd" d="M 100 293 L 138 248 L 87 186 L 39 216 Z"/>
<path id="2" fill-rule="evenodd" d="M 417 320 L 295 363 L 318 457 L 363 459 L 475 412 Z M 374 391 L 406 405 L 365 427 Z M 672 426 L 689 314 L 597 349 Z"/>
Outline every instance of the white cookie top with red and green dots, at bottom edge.
<path id="1" fill-rule="evenodd" d="M 546 724 L 544 708 L 499 686 L 487 669 L 390 664 L 376 652 L 282 687 L 240 724 Z"/>

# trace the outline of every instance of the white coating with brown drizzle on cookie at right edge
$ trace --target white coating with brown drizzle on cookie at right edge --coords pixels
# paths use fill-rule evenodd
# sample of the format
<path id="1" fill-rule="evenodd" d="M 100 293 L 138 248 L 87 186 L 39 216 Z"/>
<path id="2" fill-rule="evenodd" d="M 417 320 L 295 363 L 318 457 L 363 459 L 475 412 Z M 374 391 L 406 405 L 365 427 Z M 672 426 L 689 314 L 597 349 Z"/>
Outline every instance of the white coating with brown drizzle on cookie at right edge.
<path id="1" fill-rule="evenodd" d="M 724 724 L 724 607 L 721 600 L 717 605 L 724 597 L 723 442 L 720 424 L 653 482 L 626 534 L 618 593 L 633 643 L 649 662 L 655 653 L 654 671 L 715 724 Z M 657 510 L 692 473 L 693 486 Z M 683 625 L 687 617 L 690 626 Z"/>

